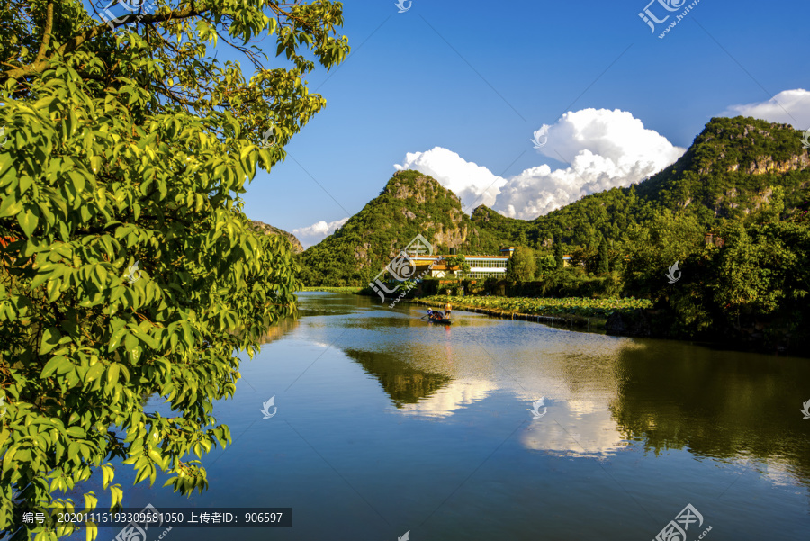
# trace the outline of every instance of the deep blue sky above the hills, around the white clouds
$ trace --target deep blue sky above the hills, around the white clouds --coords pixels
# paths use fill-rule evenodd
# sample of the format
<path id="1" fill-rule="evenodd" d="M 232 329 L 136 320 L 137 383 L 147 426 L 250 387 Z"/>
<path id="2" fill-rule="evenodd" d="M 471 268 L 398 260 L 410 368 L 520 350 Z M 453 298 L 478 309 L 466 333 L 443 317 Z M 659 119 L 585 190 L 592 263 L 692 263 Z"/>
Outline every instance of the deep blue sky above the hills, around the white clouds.
<path id="1" fill-rule="evenodd" d="M 744 111 L 788 115 L 769 120 L 810 128 L 810 95 L 779 95 L 810 89 L 810 3 L 700 0 L 660 39 L 689 2 L 671 14 L 658 1 L 650 5 L 659 18 L 671 15 L 653 34 L 638 15 L 648 1 L 413 0 L 402 14 L 394 0 L 346 2 L 341 33 L 353 51 L 337 69 L 308 78 L 328 104 L 293 138 L 286 161 L 249 185 L 247 215 L 306 237 L 302 228 L 359 212 L 383 189 L 394 165 L 406 164 L 407 153 L 439 148 L 422 157 L 425 172 L 443 167 L 439 180 L 452 188 L 466 182 L 470 167 L 485 167 L 476 169 L 479 182 L 489 174 L 510 190 L 509 198 L 498 195 L 503 202 L 495 207 L 505 212 L 509 203 L 512 215 L 533 218 L 599 187 L 626 185 L 625 176 L 665 167 L 710 118 L 733 105 L 796 98 Z M 590 108 L 608 112 L 558 122 L 563 113 Z M 629 115 L 609 113 L 614 110 Z M 635 128 L 630 118 L 639 122 Z M 614 121 L 616 130 L 589 140 L 593 122 Z M 531 139 L 544 124 L 551 127 L 548 145 L 534 149 Z M 638 140 L 651 137 L 636 149 Z M 607 176 L 599 170 L 585 185 L 567 185 L 564 175 L 552 182 L 574 157 L 604 169 L 627 149 L 649 167 L 633 175 L 628 167 Z M 608 157 L 608 166 L 594 165 L 601 157 Z M 543 164 L 548 170 L 539 168 Z M 573 169 L 578 167 L 569 174 L 593 173 L 585 173 L 587 164 Z M 530 193 L 538 190 L 542 197 Z M 473 186 L 469 194 L 481 192 Z M 322 237 L 302 240 L 308 245 Z"/>

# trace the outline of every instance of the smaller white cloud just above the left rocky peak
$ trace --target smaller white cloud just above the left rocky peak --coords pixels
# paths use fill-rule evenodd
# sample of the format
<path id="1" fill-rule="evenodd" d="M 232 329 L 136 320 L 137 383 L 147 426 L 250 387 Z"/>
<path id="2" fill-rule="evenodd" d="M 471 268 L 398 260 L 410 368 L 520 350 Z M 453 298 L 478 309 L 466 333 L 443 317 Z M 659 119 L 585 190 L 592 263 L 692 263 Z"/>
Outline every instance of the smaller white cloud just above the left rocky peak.
<path id="1" fill-rule="evenodd" d="M 458 195 L 467 212 L 471 205 L 491 206 L 506 179 L 493 175 L 483 166 L 467 161 L 452 150 L 436 147 L 427 152 L 409 152 L 405 161 L 394 165 L 398 171 L 414 169 L 437 179 L 439 184 Z"/>

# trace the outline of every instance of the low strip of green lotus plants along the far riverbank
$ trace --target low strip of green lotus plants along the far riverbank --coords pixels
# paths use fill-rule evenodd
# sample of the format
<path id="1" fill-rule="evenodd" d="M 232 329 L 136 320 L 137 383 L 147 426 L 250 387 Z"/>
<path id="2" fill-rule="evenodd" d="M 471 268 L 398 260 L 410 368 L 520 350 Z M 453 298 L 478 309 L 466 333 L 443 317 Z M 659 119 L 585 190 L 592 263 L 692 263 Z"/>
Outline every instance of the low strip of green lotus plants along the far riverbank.
<path id="1" fill-rule="evenodd" d="M 567 297 L 564 299 L 532 299 L 527 297 L 455 297 L 434 295 L 421 299 L 428 304 L 444 304 L 447 300 L 455 310 L 483 308 L 492 311 L 562 316 L 572 314 L 584 318 L 608 318 L 615 311 L 629 312 L 636 308 L 650 308 L 647 299 L 586 299 Z"/>

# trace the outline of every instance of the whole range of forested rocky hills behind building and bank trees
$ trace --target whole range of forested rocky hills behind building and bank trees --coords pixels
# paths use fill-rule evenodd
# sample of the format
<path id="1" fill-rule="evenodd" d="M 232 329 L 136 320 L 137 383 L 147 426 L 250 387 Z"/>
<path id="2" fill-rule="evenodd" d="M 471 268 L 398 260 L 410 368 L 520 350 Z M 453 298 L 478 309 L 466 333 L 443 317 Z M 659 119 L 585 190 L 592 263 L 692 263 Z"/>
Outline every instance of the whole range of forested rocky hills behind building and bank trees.
<path id="1" fill-rule="evenodd" d="M 483 205 L 467 217 L 458 197 L 436 180 L 401 171 L 343 228 L 302 253 L 302 279 L 308 285 L 365 285 L 417 234 L 434 243 L 437 253 L 457 248 L 468 255 L 516 245 L 545 256 L 557 239 L 588 270 L 596 270 L 604 245 L 610 268 L 618 267 L 645 235 L 685 227 L 702 239 L 728 222 L 788 217 L 808 199 L 808 166 L 801 132 L 790 126 L 716 118 L 657 175 L 587 195 L 533 221 Z"/>

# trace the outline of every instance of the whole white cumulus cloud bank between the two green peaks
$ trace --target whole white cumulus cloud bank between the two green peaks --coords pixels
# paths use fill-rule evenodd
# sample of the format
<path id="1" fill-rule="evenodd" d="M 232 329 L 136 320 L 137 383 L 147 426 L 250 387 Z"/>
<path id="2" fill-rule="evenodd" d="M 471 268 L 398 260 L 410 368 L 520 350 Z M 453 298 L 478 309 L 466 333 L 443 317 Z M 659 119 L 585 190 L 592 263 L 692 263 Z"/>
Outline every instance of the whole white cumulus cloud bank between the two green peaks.
<path id="1" fill-rule="evenodd" d="M 534 133 L 537 150 L 571 166 L 531 167 L 509 179 L 437 147 L 408 153 L 397 169 L 433 176 L 467 203 L 467 211 L 486 204 L 513 218 L 534 220 L 583 195 L 626 187 L 675 162 L 686 149 L 676 147 L 626 111 L 583 109 L 569 112 Z M 476 201 L 477 200 L 477 201 Z"/>

